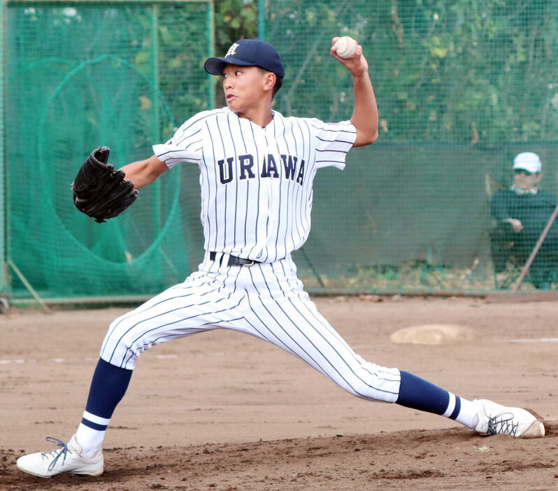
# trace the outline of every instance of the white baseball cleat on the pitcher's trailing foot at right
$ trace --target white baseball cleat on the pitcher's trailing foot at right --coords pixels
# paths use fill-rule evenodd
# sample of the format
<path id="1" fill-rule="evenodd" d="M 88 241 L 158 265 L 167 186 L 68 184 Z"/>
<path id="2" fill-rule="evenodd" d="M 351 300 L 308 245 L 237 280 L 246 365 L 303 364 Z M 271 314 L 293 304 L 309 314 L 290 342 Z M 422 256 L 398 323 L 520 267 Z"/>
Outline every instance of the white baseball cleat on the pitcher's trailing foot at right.
<path id="1" fill-rule="evenodd" d="M 478 412 L 475 431 L 490 436 L 506 434 L 515 438 L 542 438 L 545 436 L 543 422 L 520 408 L 509 408 L 487 399 L 478 399 L 482 410 Z"/>

